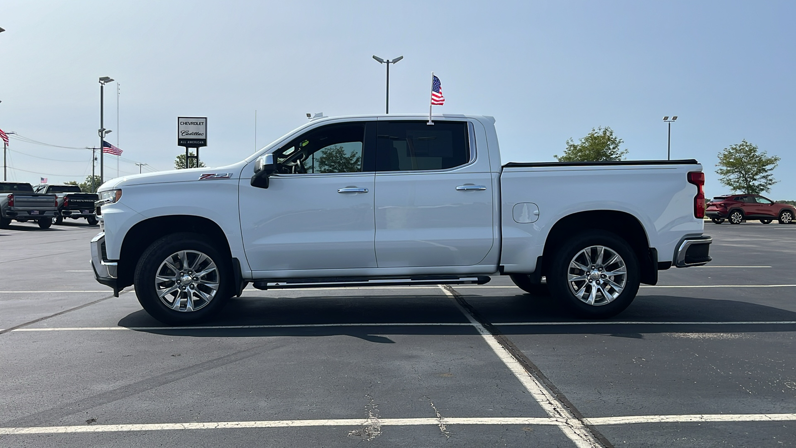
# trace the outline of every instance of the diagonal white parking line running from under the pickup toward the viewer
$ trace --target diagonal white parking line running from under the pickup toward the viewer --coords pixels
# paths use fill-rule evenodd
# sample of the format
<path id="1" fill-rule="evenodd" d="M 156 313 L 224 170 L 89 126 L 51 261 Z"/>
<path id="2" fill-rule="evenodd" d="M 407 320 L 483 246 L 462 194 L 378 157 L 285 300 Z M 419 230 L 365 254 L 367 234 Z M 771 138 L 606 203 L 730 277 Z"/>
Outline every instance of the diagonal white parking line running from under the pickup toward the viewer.
<path id="1" fill-rule="evenodd" d="M 544 387 L 544 384 L 540 383 L 533 375 L 531 375 L 528 371 L 525 371 L 525 367 L 520 364 L 520 362 L 514 358 L 514 356 L 506 350 L 498 341 L 495 336 L 489 332 L 484 326 L 475 319 L 475 317 L 470 314 L 465 308 L 462 307 L 461 304 L 458 303 L 456 297 L 451 291 L 443 288 L 440 286 L 440 289 L 443 290 L 447 296 L 453 299 L 455 305 L 459 308 L 459 310 L 464 314 L 467 320 L 470 320 L 470 324 L 481 333 L 482 338 L 486 341 L 486 344 L 492 349 L 492 351 L 497 355 L 497 358 L 503 361 L 506 367 L 509 367 L 509 371 L 511 371 L 517 379 L 520 380 L 520 383 L 525 386 L 525 389 L 533 396 L 533 399 L 539 404 L 540 407 L 544 410 L 544 412 L 551 418 L 555 419 L 562 424 L 559 426 L 560 429 L 566 434 L 566 436 L 575 443 L 576 446 L 579 448 L 588 448 L 594 446 L 602 446 L 595 438 L 591 435 L 591 432 L 587 429 L 583 422 L 579 419 L 576 419 L 574 415 L 564 406 L 564 403 L 561 403 L 559 399 L 556 398 L 552 392 L 548 391 L 547 387 Z"/>

